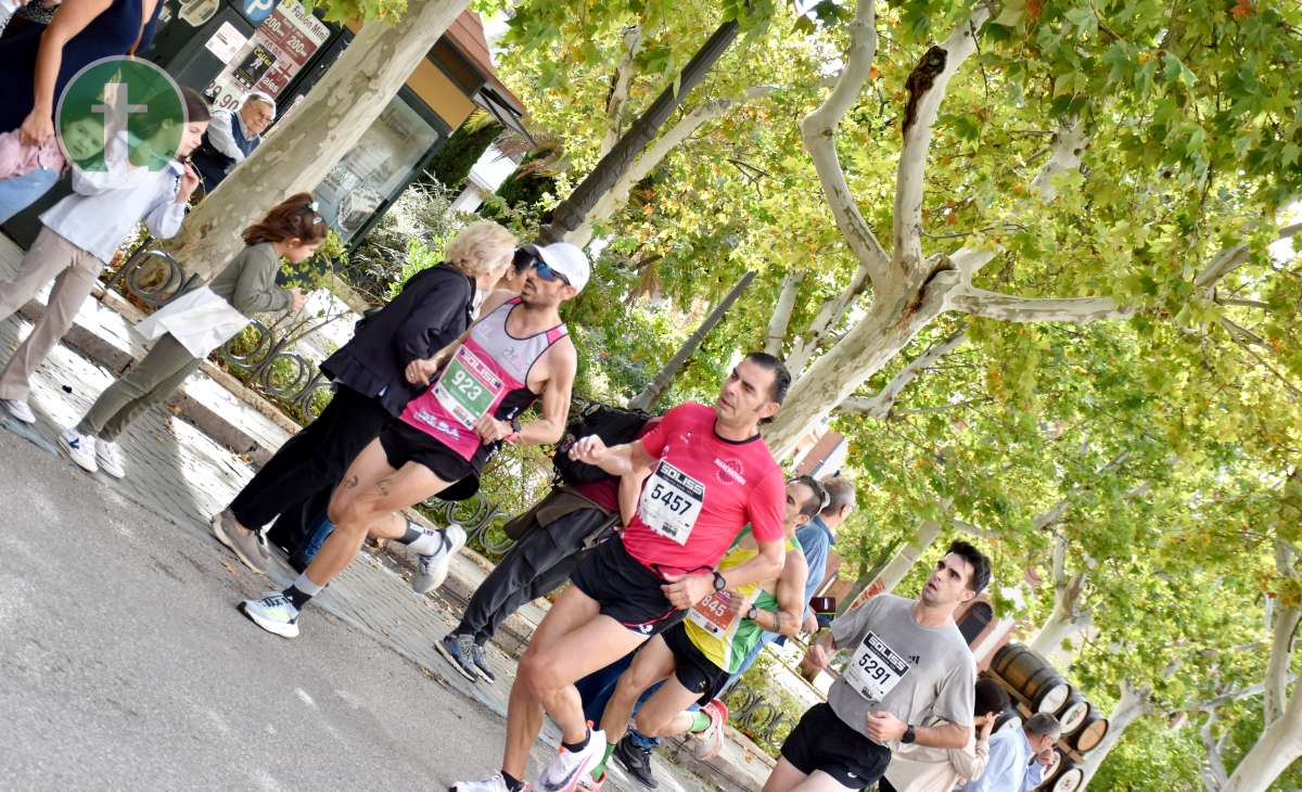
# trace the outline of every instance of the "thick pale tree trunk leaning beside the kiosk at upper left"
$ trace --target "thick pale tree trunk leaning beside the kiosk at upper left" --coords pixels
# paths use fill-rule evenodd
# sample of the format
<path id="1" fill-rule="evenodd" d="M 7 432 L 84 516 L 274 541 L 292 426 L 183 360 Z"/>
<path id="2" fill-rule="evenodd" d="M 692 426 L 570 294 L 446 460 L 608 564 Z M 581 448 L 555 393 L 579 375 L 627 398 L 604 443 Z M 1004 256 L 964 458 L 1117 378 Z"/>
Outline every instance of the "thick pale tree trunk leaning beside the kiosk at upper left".
<path id="1" fill-rule="evenodd" d="M 388 107 L 467 0 L 411 0 L 398 22 L 368 22 L 276 134 L 199 203 L 167 245 L 208 275 L 243 248 L 240 232 L 293 193 L 316 188 Z"/>

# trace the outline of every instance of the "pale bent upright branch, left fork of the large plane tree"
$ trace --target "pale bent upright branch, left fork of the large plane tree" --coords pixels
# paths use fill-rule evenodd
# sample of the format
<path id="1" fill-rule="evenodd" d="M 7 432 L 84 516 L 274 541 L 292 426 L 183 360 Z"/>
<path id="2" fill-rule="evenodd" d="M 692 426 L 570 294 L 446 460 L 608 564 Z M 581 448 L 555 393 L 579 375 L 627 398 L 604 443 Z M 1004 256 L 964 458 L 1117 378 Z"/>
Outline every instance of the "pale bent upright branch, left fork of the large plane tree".
<path id="1" fill-rule="evenodd" d="M 852 281 L 852 288 L 848 289 L 854 294 L 858 294 L 867 283 L 884 279 L 891 261 L 859 212 L 836 154 L 836 128 L 845 113 L 854 107 L 863 83 L 867 82 L 876 50 L 876 3 L 858 0 L 854 20 L 850 22 L 850 46 L 845 53 L 845 66 L 823 104 L 801 121 L 801 138 L 814 162 L 832 216 L 859 262 L 859 271 Z"/>

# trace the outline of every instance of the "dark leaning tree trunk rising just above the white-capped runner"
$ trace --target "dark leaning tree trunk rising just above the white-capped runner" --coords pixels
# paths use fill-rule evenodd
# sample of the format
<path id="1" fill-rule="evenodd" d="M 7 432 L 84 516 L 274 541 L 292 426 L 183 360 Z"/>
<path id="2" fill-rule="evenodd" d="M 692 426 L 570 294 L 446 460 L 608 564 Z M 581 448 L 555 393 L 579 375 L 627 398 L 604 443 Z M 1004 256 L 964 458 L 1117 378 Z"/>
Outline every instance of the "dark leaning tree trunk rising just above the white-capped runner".
<path id="1" fill-rule="evenodd" d="M 628 172 L 633 160 L 647 147 L 659 134 L 660 128 L 669 120 L 684 96 L 704 79 L 710 69 L 723 56 L 728 47 L 737 38 L 737 22 L 728 21 L 715 30 L 713 35 L 691 56 L 684 66 L 678 81 L 669 85 L 656 96 L 651 107 L 633 122 L 629 132 L 596 163 L 592 172 L 587 175 L 569 198 L 556 206 L 552 212 L 552 221 L 538 229 L 538 240 L 543 245 L 560 242 L 565 234 L 578 228 L 587 214 L 592 211 L 596 202 L 611 191 L 615 182 Z"/>

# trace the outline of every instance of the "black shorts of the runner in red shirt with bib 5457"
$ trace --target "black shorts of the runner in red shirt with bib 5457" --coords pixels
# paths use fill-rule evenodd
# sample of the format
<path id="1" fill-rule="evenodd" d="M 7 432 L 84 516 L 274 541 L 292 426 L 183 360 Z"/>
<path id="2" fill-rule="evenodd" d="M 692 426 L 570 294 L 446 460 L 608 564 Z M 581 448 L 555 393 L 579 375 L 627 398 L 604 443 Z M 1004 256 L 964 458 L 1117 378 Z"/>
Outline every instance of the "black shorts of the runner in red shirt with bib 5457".
<path id="1" fill-rule="evenodd" d="M 639 636 L 659 634 L 682 621 L 680 611 L 665 599 L 664 580 L 613 538 L 590 550 L 574 569 L 570 581 L 602 606 L 602 615 L 615 619 Z"/>

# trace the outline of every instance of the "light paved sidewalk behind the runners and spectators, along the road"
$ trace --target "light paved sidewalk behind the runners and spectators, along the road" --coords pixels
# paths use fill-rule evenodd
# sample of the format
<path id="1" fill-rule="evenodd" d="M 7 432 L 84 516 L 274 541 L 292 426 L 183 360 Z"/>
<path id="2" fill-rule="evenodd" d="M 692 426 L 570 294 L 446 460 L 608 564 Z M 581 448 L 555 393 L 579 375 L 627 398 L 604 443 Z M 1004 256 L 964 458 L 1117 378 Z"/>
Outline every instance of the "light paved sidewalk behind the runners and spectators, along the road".
<path id="1" fill-rule="evenodd" d="M 0 237 L 0 279 L 8 277 L 14 266 L 14 251 L 8 240 Z M 82 333 L 78 346 L 87 354 L 105 358 L 117 367 L 124 365 L 126 356 L 143 354 L 143 348 L 133 340 L 129 323 L 116 310 L 89 302 L 82 314 L 78 317 Z M 25 323 L 18 319 L 0 323 L 0 349 L 5 350 L 4 354 L 17 344 L 20 326 L 26 332 Z M 116 361 L 115 349 L 118 356 Z M 8 425 L 52 453 L 59 429 L 74 423 L 111 380 L 112 376 L 104 367 L 68 346 L 60 346 L 33 383 L 33 405 L 42 418 L 40 423 L 34 430 L 14 426 L 16 422 L 12 421 Z M 266 443 L 266 448 L 273 448 L 288 438 L 285 427 L 251 401 L 256 401 L 251 393 L 236 397 L 229 383 L 219 384 L 211 376 L 202 375 L 193 378 L 186 386 L 185 397 L 173 409 L 187 418 L 193 416 L 204 422 L 204 431 L 160 410 L 147 414 L 121 438 L 128 478 L 115 481 L 98 475 L 96 490 L 103 498 L 133 504 L 160 515 L 185 530 L 207 535 L 207 516 L 228 503 L 253 473 L 241 455 L 230 452 L 210 434 L 256 438 L 256 443 Z M 214 421 L 230 429 L 225 434 L 212 431 Z M 69 470 L 83 475 L 79 469 Z M 217 556 L 223 554 L 215 543 L 212 552 Z M 401 551 L 396 555 L 401 556 Z M 434 650 L 434 642 L 457 621 L 465 599 L 486 573 L 482 559 L 466 554 L 456 560 L 449 582 L 439 591 L 440 597 L 422 598 L 408 587 L 408 572 L 397 559 L 385 554 L 363 554 L 319 598 L 319 603 L 323 610 L 426 668 L 435 684 L 453 689 L 504 716 L 505 698 L 514 672 L 513 658 L 496 650 L 490 651 L 491 662 L 499 671 L 499 681 L 496 685 L 474 685 L 453 672 Z M 281 569 L 273 572 L 272 577 L 277 582 L 286 582 L 289 574 L 288 569 Z M 526 607 L 526 617 L 517 616 L 512 620 L 504 630 L 508 634 L 503 636 L 503 642 L 518 649 L 542 614 L 534 606 Z M 312 616 L 310 612 L 305 616 L 305 632 L 312 629 Z M 555 744 L 557 735 L 547 733 L 544 739 Z M 660 770 L 659 776 L 668 782 L 663 788 L 758 788 L 767 776 L 769 761 L 746 748 L 745 740 L 728 742 L 728 752 L 721 761 L 711 762 L 715 767 L 698 766 L 698 771 L 710 778 L 708 782 L 682 770 L 674 770 L 671 780 Z M 667 753 L 672 756 L 684 752 L 661 749 L 661 756 Z M 685 758 L 690 759 L 690 750 Z M 665 762 L 659 762 L 659 767 L 664 769 Z M 622 778 L 616 769 L 608 788 L 635 788 L 635 784 Z"/>

